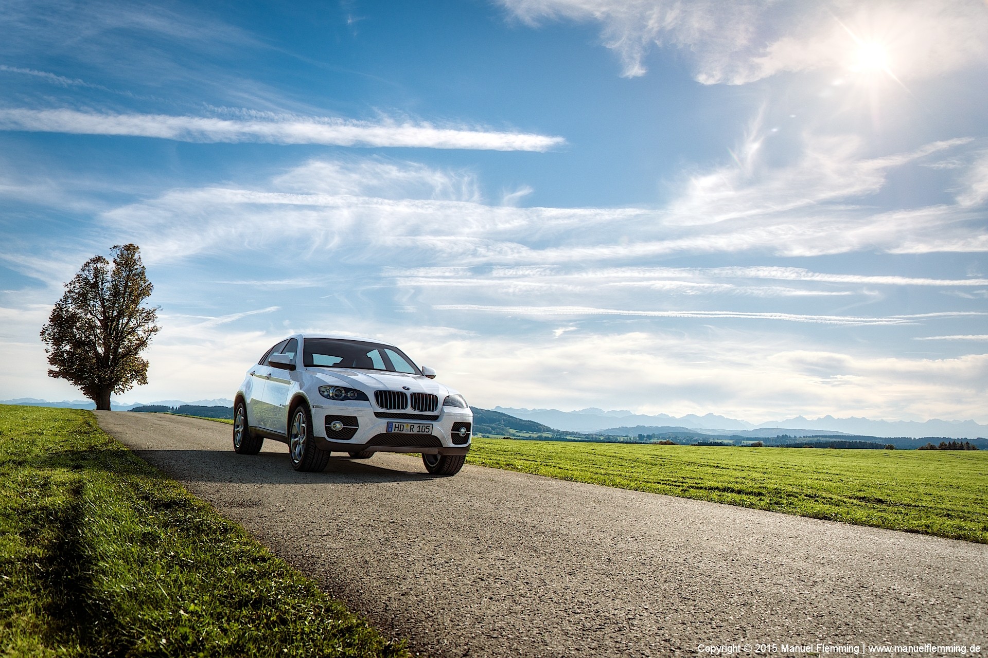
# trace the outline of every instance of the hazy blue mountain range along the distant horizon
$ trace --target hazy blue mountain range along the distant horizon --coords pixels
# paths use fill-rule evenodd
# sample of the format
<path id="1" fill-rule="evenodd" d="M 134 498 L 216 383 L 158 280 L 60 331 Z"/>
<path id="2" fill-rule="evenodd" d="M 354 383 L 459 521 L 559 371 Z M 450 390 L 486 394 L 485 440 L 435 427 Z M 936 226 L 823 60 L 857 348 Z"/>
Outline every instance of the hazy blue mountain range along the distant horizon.
<path id="1" fill-rule="evenodd" d="M 701 432 L 703 434 L 740 434 L 742 436 L 746 435 L 743 433 L 744 430 L 751 430 L 758 433 L 752 433 L 750 436 L 757 437 L 770 437 L 778 434 L 788 434 L 789 436 L 853 434 L 914 438 L 939 436 L 954 439 L 988 437 L 988 425 L 982 425 L 973 420 L 933 419 L 918 422 L 915 420 L 871 420 L 857 417 L 835 418 L 831 415 L 825 415 L 815 420 L 795 416 L 785 420 L 755 425 L 744 420 L 727 418 L 713 413 L 702 416 L 691 413 L 676 417 L 666 413 L 645 415 L 622 410 L 605 411 L 595 407 L 578 411 L 560 411 L 559 409 L 495 406 L 494 410 L 570 432 L 596 432 L 598 434 L 621 434 L 632 432 L 632 430 L 634 430 L 633 434 L 661 434 L 664 432 L 655 430 L 662 427 L 678 427 L 703 430 Z M 768 430 L 768 432 L 762 433 L 762 430 Z"/>

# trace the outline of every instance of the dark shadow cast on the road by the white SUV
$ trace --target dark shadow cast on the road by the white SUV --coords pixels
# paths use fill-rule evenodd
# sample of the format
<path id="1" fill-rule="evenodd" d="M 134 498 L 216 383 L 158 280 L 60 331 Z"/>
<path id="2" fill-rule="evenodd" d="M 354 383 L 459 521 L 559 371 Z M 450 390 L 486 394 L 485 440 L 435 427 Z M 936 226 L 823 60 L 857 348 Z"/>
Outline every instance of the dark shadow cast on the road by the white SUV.
<path id="1" fill-rule="evenodd" d="M 363 460 L 333 458 L 321 473 L 298 473 L 285 453 L 237 455 L 229 450 L 134 450 L 142 460 L 171 477 L 198 482 L 258 484 L 374 483 L 434 479 L 427 473 L 382 469 Z M 421 466 L 421 462 L 418 462 Z M 416 462 L 409 461 L 415 468 Z"/>

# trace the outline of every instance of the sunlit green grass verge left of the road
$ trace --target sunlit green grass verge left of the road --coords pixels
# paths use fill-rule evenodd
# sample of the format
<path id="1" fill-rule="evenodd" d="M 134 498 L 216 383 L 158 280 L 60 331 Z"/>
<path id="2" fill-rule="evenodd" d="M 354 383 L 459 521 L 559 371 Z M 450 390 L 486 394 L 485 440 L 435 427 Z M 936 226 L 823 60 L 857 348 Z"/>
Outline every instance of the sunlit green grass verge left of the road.
<path id="1" fill-rule="evenodd" d="M 0 405 L 0 655 L 408 654 L 90 411 Z"/>

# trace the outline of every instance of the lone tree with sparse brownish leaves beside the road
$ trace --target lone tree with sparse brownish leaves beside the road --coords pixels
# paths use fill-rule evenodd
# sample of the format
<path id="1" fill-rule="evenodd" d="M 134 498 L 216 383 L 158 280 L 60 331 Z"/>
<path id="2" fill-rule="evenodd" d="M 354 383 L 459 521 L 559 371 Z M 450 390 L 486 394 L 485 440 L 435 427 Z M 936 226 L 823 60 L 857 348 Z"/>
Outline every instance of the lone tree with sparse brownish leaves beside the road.
<path id="1" fill-rule="evenodd" d="M 158 307 L 141 306 L 154 289 L 140 249 L 115 245 L 113 263 L 93 256 L 65 284 L 41 339 L 48 345 L 48 375 L 66 379 L 96 408 L 109 409 L 111 394 L 147 384 L 140 353 L 158 331 Z"/>

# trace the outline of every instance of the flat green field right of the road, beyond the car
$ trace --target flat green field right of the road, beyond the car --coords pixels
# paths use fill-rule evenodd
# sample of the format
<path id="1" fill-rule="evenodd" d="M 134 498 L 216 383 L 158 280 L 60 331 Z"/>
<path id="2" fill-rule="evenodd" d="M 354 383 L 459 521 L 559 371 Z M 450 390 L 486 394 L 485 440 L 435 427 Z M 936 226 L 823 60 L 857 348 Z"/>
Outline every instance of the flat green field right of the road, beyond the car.
<path id="1" fill-rule="evenodd" d="M 474 438 L 468 464 L 988 544 L 988 452 Z"/>

